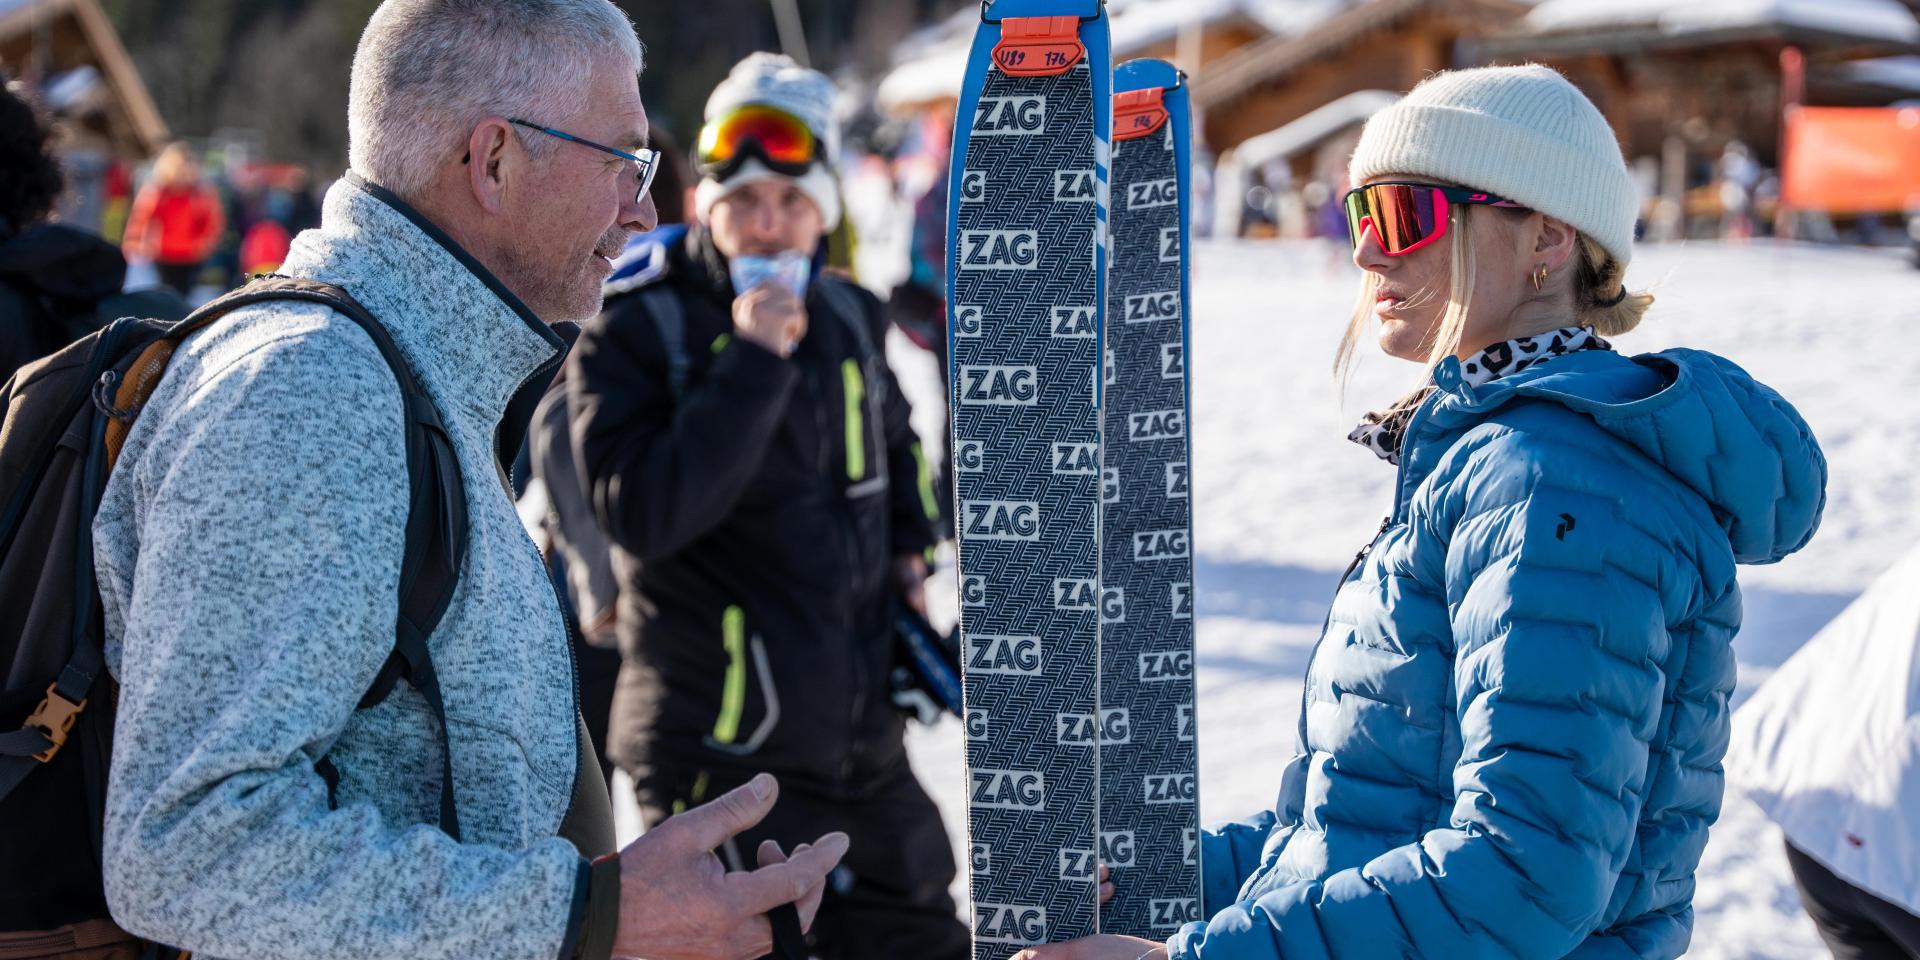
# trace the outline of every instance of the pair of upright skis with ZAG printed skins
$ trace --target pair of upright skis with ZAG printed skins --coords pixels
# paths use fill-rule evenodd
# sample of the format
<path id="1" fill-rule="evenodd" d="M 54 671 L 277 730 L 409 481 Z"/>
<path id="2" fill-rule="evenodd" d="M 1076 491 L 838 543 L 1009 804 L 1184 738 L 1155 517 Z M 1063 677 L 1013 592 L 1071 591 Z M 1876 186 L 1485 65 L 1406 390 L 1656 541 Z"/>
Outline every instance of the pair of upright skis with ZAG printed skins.
<path id="1" fill-rule="evenodd" d="M 1181 86 L 1112 69 L 1100 0 L 983 6 L 948 205 L 979 960 L 1200 920 Z"/>

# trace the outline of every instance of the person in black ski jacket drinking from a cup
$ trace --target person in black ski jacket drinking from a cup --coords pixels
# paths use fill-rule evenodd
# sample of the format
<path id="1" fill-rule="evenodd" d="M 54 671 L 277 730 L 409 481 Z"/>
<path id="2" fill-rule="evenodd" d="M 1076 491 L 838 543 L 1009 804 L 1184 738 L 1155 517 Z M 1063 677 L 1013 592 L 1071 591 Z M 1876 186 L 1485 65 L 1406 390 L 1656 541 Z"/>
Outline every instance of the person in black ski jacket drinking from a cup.
<path id="1" fill-rule="evenodd" d="M 833 88 L 755 54 L 707 104 L 697 223 L 662 232 L 572 351 L 580 482 L 614 543 L 611 753 L 649 824 L 780 776 L 739 845 L 852 835 L 824 958 L 962 958 L 954 860 L 889 691 L 939 503 L 879 301 L 822 273 Z M 814 833 L 808 833 L 814 831 Z"/>

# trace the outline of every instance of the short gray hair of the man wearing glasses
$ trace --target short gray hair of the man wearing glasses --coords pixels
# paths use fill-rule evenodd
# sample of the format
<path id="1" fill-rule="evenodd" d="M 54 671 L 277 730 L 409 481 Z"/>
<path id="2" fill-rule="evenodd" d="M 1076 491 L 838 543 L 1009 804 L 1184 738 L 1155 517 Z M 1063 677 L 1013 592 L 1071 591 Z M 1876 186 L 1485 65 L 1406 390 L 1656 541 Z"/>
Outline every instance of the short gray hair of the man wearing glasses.
<path id="1" fill-rule="evenodd" d="M 403 198 L 426 190 L 486 117 L 561 123 L 586 104 L 595 58 L 645 65 L 611 0 L 386 0 L 353 52 L 348 163 Z M 534 156 L 559 148 L 528 138 Z"/>

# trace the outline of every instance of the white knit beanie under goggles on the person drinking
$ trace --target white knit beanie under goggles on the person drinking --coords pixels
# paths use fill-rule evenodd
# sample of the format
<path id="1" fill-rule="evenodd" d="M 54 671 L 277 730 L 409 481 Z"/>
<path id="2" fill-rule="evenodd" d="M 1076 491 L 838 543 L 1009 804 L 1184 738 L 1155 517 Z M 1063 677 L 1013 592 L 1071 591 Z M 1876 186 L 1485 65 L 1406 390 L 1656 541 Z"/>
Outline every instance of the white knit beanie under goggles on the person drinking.
<path id="1" fill-rule="evenodd" d="M 839 125 L 833 121 L 833 81 L 824 73 L 799 65 L 785 54 L 749 54 L 733 65 L 720 86 L 707 98 L 707 121 L 747 104 L 764 104 L 793 113 L 820 140 L 826 163 L 814 163 L 801 177 L 770 171 L 758 157 L 747 159 L 726 180 L 701 179 L 693 188 L 693 215 L 707 223 L 714 204 L 755 180 L 791 180 L 820 207 L 822 228 L 839 227 L 839 180 L 828 163 L 839 156 Z"/>

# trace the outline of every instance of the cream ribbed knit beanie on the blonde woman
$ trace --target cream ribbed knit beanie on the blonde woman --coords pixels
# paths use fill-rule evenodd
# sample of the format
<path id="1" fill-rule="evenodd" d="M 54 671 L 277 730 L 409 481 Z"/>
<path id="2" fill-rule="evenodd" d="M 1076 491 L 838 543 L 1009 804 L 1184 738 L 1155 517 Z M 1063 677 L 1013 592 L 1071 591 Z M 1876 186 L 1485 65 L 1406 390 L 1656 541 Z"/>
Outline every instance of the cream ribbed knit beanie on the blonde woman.
<path id="1" fill-rule="evenodd" d="M 1436 73 L 1379 111 L 1348 177 L 1430 177 L 1524 204 L 1592 236 L 1624 267 L 1640 194 L 1599 109 L 1559 71 L 1478 67 Z"/>

